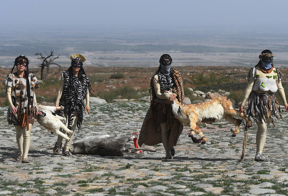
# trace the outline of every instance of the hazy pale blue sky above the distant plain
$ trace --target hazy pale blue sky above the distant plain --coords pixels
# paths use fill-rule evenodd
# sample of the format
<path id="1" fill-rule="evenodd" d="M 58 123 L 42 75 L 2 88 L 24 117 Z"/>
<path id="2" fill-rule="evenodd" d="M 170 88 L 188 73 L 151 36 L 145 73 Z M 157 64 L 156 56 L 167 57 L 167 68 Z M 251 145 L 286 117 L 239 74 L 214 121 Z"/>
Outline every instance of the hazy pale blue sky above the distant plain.
<path id="1" fill-rule="evenodd" d="M 287 0 L 12 0 L 1 5 L 1 28 L 225 27 L 286 31 Z"/>

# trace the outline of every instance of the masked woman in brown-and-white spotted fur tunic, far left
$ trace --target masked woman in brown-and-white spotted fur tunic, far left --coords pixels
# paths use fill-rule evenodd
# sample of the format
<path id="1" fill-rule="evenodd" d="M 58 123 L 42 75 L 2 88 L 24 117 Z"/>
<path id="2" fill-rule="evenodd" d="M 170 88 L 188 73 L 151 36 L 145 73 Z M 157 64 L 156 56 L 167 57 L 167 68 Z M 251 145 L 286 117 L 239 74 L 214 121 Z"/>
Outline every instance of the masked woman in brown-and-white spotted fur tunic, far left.
<path id="1" fill-rule="evenodd" d="M 31 141 L 31 127 L 34 123 L 35 112 L 38 112 L 35 89 L 39 88 L 37 78 L 28 70 L 29 60 L 26 56 L 16 57 L 14 66 L 4 80 L 9 102 L 7 122 L 16 129 L 16 140 L 19 155 L 16 161 L 29 163 L 28 151 Z M 13 73 L 13 69 L 17 71 Z M 41 115 L 40 112 L 38 114 Z"/>

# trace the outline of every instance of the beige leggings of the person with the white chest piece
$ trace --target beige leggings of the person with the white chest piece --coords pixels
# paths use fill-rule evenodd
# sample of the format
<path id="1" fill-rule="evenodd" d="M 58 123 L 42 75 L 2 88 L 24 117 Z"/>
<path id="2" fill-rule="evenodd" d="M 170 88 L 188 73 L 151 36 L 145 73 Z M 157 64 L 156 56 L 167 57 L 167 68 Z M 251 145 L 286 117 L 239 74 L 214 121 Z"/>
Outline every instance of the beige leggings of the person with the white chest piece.
<path id="1" fill-rule="evenodd" d="M 257 117 L 258 122 L 256 122 L 257 126 L 258 126 L 258 130 L 257 130 L 257 134 L 256 134 L 256 153 L 262 153 L 263 148 L 264 148 L 264 144 L 266 141 L 266 134 L 267 134 L 267 130 L 268 127 L 271 123 L 271 119 L 266 119 L 267 125 L 263 122 L 263 124 L 261 122 L 259 122 L 259 117 Z"/>

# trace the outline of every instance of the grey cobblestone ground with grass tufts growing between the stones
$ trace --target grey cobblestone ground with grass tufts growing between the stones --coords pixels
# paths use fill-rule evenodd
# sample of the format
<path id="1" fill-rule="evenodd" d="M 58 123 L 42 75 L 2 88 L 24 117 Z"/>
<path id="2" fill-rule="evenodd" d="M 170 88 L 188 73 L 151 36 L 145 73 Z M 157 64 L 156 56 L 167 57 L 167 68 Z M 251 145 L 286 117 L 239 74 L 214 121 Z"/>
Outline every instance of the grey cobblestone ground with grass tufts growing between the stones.
<path id="1" fill-rule="evenodd" d="M 139 133 L 149 103 L 92 105 L 84 114 L 83 129 L 75 141 L 89 135 L 128 136 Z M 164 159 L 162 144 L 143 145 L 141 154 L 123 157 L 52 153 L 56 136 L 35 123 L 30 163 L 16 162 L 15 129 L 6 123 L 7 107 L 0 108 L 0 195 L 287 195 L 288 131 L 285 122 L 270 126 L 263 154 L 269 162 L 255 162 L 256 126 L 248 130 L 241 156 L 243 130 L 232 138 L 227 121 L 200 128 L 208 138 L 192 143 L 184 130 L 174 159 Z M 284 113 L 284 112 L 283 112 Z M 132 144 L 132 142 L 131 142 Z"/>

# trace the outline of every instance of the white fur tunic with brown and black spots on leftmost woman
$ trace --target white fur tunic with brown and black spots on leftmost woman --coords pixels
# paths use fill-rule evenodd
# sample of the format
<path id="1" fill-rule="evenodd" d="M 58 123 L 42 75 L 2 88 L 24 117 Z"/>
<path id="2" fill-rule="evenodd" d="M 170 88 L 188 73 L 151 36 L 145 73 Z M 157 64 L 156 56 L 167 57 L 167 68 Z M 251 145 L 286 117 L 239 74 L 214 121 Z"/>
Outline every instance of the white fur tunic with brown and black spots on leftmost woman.
<path id="1" fill-rule="evenodd" d="M 18 74 L 11 73 L 9 74 L 3 84 L 6 85 L 6 90 L 7 87 L 11 87 L 11 98 L 12 98 L 12 103 L 16 108 L 16 111 L 18 111 L 18 108 L 20 109 L 20 115 L 24 115 L 26 112 L 26 108 L 28 105 L 28 109 L 30 111 L 30 114 L 35 113 L 35 89 L 39 88 L 39 82 L 37 78 L 34 76 L 33 73 L 28 74 L 28 79 L 30 82 L 30 98 L 29 98 L 29 104 L 28 104 L 28 98 L 27 98 L 27 89 L 26 89 L 26 77 L 19 77 Z M 11 108 L 8 108 L 8 113 L 7 113 L 7 122 L 11 124 L 17 124 L 17 120 L 20 119 L 18 114 L 14 115 L 12 113 Z"/>

